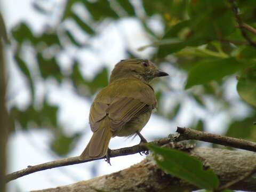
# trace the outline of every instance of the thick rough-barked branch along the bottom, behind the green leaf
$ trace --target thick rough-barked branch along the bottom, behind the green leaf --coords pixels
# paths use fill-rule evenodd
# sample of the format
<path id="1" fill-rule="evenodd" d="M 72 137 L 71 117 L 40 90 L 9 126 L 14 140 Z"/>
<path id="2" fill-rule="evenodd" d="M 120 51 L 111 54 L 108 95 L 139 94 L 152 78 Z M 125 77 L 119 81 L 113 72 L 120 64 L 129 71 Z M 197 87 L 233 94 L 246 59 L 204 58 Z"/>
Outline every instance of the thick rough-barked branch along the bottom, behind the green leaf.
<path id="1" fill-rule="evenodd" d="M 194 148 L 189 151 L 218 175 L 221 185 L 241 175 L 251 172 L 256 167 L 256 154 L 249 151 L 234 151 L 216 148 Z M 158 169 L 154 159 L 149 156 L 142 162 L 125 170 L 103 175 L 68 186 L 37 190 L 37 192 L 95 192 L 95 191 L 183 191 L 195 190 L 195 186 L 172 177 Z M 239 181 L 231 189 L 256 191 L 256 174 Z M 35 192 L 35 191 L 34 191 Z"/>

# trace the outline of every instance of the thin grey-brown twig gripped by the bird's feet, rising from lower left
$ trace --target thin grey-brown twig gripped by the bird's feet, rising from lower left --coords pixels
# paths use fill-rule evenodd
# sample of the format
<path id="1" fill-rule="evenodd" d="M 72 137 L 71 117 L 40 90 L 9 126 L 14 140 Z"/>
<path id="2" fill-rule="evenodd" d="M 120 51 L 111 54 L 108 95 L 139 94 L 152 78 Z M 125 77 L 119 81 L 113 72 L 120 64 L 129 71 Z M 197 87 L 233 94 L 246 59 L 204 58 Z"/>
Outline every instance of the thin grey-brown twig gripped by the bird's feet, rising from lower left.
<path id="1" fill-rule="evenodd" d="M 178 137 L 178 135 L 170 135 L 169 137 L 159 139 L 159 140 L 155 140 L 155 141 L 150 142 L 150 143 L 152 143 L 154 145 L 162 146 L 162 145 L 165 145 L 165 144 L 167 144 L 169 142 L 172 142 L 174 140 L 179 141 L 179 138 L 177 138 L 177 137 Z M 125 147 L 125 148 L 121 148 L 121 149 L 111 150 L 110 151 L 110 157 L 131 155 L 131 154 L 136 154 L 136 153 L 139 153 L 139 152 L 145 151 L 145 150 L 147 150 L 145 144 L 141 143 L 139 145 L 135 145 L 135 146 L 132 146 L 132 147 Z M 59 160 L 52 161 L 52 162 L 42 163 L 42 164 L 35 165 L 35 166 L 28 166 L 26 169 L 7 174 L 5 180 L 6 180 L 6 182 L 9 182 L 11 180 L 18 179 L 20 177 L 23 177 L 25 175 L 35 173 L 35 172 L 38 172 L 38 171 L 43 171 L 43 170 L 52 169 L 52 168 L 55 168 L 55 167 L 74 165 L 74 164 L 85 163 L 85 162 L 90 162 L 90 161 L 97 160 L 97 159 L 88 159 L 86 161 L 80 161 L 78 159 L 78 157 L 79 156 L 63 158 L 63 159 L 59 159 Z M 102 158 L 98 158 L 98 159 L 102 159 Z"/>

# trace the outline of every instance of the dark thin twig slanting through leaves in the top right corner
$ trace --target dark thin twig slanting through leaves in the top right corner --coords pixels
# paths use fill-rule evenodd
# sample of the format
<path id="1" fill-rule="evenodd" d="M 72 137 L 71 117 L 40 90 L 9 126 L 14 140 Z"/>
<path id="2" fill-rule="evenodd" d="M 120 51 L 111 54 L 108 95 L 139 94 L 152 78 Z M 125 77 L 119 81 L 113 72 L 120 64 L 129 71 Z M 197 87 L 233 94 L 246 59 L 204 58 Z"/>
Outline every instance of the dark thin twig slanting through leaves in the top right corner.
<path id="1" fill-rule="evenodd" d="M 252 39 L 246 34 L 245 31 L 245 25 L 243 23 L 243 21 L 241 20 L 241 18 L 238 15 L 238 7 L 235 4 L 235 0 L 229 0 L 229 3 L 231 5 L 231 8 L 233 10 L 234 16 L 236 18 L 236 22 L 238 23 L 238 27 L 241 31 L 241 34 L 243 35 L 243 37 L 246 39 L 246 41 L 253 47 L 256 47 L 256 43 L 252 41 Z M 246 28 L 248 30 L 248 28 Z"/>

